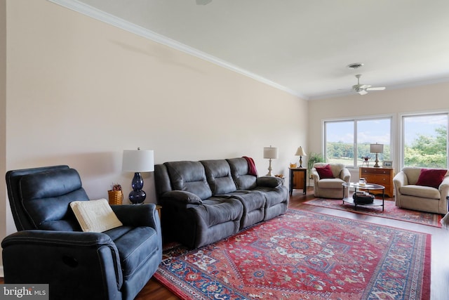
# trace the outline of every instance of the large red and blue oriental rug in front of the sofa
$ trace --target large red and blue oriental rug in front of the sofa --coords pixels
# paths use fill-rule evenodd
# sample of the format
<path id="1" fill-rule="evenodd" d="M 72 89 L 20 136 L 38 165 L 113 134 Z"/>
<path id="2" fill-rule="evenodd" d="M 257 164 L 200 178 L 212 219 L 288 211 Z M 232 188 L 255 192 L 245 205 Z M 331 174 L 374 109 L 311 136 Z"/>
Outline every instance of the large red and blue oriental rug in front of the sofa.
<path id="1" fill-rule="evenodd" d="M 429 299 L 431 235 L 288 209 L 154 277 L 181 299 Z"/>

